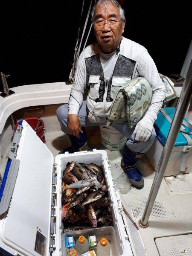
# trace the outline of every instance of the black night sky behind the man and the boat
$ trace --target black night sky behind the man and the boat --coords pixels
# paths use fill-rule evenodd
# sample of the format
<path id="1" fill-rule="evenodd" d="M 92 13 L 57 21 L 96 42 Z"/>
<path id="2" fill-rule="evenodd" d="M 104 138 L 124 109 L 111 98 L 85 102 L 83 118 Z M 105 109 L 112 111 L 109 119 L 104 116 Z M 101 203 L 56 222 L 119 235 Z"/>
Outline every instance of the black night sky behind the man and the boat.
<path id="1" fill-rule="evenodd" d="M 124 36 L 148 49 L 160 73 L 180 73 L 191 40 L 186 1 L 124 3 Z M 9 87 L 68 80 L 81 4 L 0 0 L 0 72 L 11 74 Z"/>

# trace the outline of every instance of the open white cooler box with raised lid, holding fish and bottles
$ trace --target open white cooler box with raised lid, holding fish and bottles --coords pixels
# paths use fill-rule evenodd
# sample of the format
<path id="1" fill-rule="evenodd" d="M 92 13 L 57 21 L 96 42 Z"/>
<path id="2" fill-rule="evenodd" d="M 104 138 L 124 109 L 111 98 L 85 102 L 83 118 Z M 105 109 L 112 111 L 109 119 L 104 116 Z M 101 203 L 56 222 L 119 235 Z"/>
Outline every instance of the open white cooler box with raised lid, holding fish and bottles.
<path id="1" fill-rule="evenodd" d="M 68 162 L 103 166 L 113 227 L 63 233 L 61 170 Z M 104 150 L 60 154 L 55 158 L 27 122 L 21 121 L 0 188 L 0 252 L 4 255 L 66 256 L 65 236 L 107 236 L 111 256 L 131 256 L 127 222 L 117 198 Z"/>

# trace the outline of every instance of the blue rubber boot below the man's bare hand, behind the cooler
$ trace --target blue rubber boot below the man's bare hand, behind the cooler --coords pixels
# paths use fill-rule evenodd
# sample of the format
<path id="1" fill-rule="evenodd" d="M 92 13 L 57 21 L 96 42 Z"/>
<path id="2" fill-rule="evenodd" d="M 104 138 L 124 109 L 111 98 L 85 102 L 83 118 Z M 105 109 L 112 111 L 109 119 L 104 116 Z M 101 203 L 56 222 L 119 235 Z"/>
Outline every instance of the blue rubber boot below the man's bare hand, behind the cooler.
<path id="1" fill-rule="evenodd" d="M 81 127 L 83 133 L 79 132 L 79 138 L 73 135 L 69 135 L 71 146 L 68 148 L 64 148 L 59 152 L 59 154 L 64 154 L 65 152 L 74 153 L 78 151 L 90 150 L 87 144 L 87 134 L 84 127 Z"/>

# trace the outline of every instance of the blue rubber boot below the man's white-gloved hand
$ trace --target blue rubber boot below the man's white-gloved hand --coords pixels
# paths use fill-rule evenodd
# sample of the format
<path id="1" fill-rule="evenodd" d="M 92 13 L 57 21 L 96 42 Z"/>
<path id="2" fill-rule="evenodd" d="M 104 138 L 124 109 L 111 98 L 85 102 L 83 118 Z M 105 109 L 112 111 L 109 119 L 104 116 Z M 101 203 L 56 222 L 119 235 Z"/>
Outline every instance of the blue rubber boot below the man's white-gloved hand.
<path id="1" fill-rule="evenodd" d="M 144 186 L 143 176 L 136 167 L 137 161 L 143 156 L 141 153 L 132 151 L 125 145 L 123 149 L 123 157 L 121 167 L 128 175 L 128 179 L 136 189 L 142 189 Z"/>

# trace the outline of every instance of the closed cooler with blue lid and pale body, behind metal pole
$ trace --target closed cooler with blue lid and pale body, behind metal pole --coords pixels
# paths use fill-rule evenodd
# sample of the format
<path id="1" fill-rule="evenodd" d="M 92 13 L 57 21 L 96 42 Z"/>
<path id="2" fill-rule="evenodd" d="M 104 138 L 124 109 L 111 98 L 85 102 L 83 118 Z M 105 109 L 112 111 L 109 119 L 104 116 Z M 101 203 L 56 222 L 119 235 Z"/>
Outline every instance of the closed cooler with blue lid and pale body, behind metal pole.
<path id="1" fill-rule="evenodd" d="M 162 108 L 154 123 L 157 134 L 153 145 L 146 153 L 155 171 L 166 143 L 175 108 Z M 183 120 L 180 132 L 177 136 L 175 146 L 164 176 L 178 175 L 183 172 L 192 172 L 192 125 Z"/>

